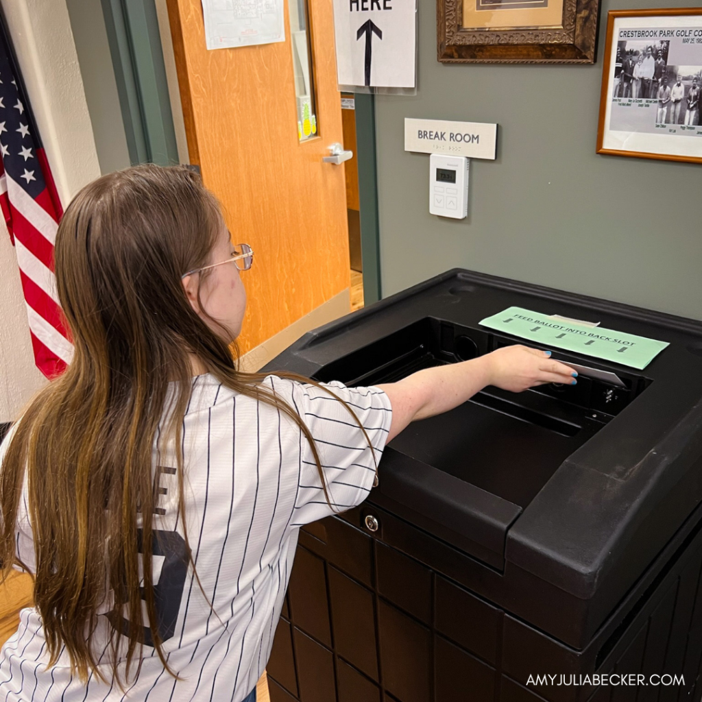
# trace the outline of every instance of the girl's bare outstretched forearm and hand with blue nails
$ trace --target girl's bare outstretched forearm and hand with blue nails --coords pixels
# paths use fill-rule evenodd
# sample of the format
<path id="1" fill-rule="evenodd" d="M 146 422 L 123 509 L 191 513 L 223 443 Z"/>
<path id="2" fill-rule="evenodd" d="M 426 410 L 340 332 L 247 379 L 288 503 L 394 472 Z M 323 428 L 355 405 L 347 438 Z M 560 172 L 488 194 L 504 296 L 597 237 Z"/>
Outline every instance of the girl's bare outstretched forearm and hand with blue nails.
<path id="1" fill-rule="evenodd" d="M 447 412 L 486 385 L 522 392 L 545 383 L 575 383 L 577 373 L 549 356 L 548 351 L 506 346 L 470 361 L 428 368 L 397 383 L 378 385 L 392 405 L 388 441 L 410 422 Z"/>

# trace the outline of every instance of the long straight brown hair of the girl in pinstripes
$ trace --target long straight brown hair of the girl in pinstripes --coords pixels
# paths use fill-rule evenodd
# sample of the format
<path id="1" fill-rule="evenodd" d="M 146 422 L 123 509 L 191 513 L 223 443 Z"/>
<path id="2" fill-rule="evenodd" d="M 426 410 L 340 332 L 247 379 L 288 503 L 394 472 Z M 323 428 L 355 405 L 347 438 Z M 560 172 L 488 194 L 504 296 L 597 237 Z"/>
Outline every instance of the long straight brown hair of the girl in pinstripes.
<path id="1" fill-rule="evenodd" d="M 149 621 L 157 621 L 152 449 L 164 450 L 169 440 L 176 446 L 178 513 L 185 530 L 181 433 L 193 356 L 227 388 L 276 406 L 298 424 L 329 501 L 319 454 L 302 418 L 261 384 L 263 375 L 237 371 L 227 342 L 194 312 L 183 290 L 181 274 L 208 263 L 224 226 L 218 202 L 195 173 L 182 166 L 136 166 L 84 187 L 58 227 L 56 282 L 75 352 L 67 371 L 29 404 L 6 451 L 0 562 L 4 575 L 18 562 L 15 521 L 26 476 L 36 552 L 34 600 L 49 665 L 65 645 L 84 680 L 88 671 L 104 680 L 91 633 L 110 590 L 118 595 L 111 621 L 126 622 L 126 629 L 110 634 L 118 684 L 129 677 L 135 654 L 138 675 L 142 597 Z M 176 392 L 169 392 L 169 383 Z M 159 428 L 162 416 L 168 420 Z M 187 532 L 184 536 L 187 545 Z M 194 568 L 189 546 L 187 559 Z M 152 632 L 159 658 L 175 675 L 155 626 Z M 118 667 L 121 634 L 128 637 L 124 680 Z"/>

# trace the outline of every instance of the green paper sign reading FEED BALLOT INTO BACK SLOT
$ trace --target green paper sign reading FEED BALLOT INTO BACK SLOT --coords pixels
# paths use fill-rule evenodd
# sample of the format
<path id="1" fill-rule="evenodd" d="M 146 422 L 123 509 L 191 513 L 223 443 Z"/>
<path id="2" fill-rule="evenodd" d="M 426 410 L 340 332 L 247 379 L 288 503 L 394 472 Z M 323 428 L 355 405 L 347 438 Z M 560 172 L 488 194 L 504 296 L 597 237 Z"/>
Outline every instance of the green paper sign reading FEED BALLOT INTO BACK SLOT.
<path id="1" fill-rule="evenodd" d="M 549 317 L 548 314 L 510 307 L 480 322 L 490 329 L 534 341 L 542 346 L 554 346 L 567 351 L 602 358 L 642 371 L 666 346 L 656 341 L 623 331 L 584 326 L 576 322 Z"/>

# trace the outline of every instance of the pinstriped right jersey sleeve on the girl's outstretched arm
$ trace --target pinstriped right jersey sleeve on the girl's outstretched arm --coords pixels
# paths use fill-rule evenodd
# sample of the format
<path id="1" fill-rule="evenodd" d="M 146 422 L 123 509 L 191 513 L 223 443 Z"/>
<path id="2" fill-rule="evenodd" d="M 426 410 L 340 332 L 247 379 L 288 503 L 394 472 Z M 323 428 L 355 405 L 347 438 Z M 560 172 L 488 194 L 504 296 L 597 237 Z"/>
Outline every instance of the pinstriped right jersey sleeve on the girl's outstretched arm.
<path id="1" fill-rule="evenodd" d="M 324 495 L 310 444 L 303 437 L 298 492 L 291 518 L 293 527 L 345 512 L 362 503 L 373 487 L 376 465 L 390 432 L 392 406 L 383 390 L 347 388 L 336 381 L 324 383 L 323 387 L 354 411 L 368 439 L 336 397 L 314 385 L 296 383 L 293 402 L 317 446 L 331 506 Z"/>

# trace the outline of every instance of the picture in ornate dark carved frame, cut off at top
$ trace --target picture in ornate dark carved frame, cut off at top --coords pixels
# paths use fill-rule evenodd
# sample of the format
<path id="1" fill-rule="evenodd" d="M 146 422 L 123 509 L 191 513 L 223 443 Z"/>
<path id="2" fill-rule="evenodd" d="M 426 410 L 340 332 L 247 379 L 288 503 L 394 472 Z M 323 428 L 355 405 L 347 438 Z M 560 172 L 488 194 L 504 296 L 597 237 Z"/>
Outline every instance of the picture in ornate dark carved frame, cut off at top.
<path id="1" fill-rule="evenodd" d="M 600 0 L 437 0 L 442 63 L 594 63 Z"/>

